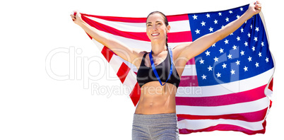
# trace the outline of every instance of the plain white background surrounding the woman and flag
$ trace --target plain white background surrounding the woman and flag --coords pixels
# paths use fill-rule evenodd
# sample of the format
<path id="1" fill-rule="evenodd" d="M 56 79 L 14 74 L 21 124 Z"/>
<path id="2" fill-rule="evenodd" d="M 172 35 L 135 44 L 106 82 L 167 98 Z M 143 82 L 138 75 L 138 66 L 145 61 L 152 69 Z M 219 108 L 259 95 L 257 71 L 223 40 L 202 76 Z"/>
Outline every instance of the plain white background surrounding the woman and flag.
<path id="1" fill-rule="evenodd" d="M 121 84 L 114 78 L 112 69 L 90 61 L 103 57 L 83 30 L 71 21 L 71 11 L 103 16 L 145 17 L 151 11 L 174 15 L 225 10 L 250 2 L 26 0 L 2 3 L 0 139 L 131 139 L 135 107 L 124 89 L 118 89 Z M 277 62 L 273 106 L 267 118 L 266 134 L 248 136 L 240 132 L 203 132 L 180 135 L 180 139 L 283 138 L 281 115 L 284 98 L 280 89 L 283 78 L 283 2 L 263 0 L 261 3 L 271 52 Z M 61 77 L 69 75 L 70 80 L 59 81 L 58 77 L 47 73 L 46 59 L 52 50 L 77 50 L 71 57 L 69 52 L 54 54 L 48 65 L 54 74 Z M 70 58 L 75 59 L 76 63 Z M 88 76 L 88 71 L 93 76 L 101 74 L 98 69 L 105 69 L 107 73 L 89 84 L 98 84 L 101 93 L 93 91 L 91 86 L 84 87 L 88 79 L 83 76 Z M 110 92 L 104 91 L 107 88 L 113 90 L 115 95 L 108 95 Z"/>

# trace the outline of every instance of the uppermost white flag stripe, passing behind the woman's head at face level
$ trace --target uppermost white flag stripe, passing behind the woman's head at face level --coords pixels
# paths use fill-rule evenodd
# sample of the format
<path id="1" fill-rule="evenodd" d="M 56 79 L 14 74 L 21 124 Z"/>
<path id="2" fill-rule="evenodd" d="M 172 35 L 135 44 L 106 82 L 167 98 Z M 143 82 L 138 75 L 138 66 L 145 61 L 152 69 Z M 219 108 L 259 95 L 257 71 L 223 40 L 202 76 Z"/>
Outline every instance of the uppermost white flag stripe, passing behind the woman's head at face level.
<path id="1" fill-rule="evenodd" d="M 146 23 L 124 23 L 124 22 L 117 22 L 117 21 L 106 21 L 100 18 L 94 18 L 87 16 L 90 20 L 97 21 L 98 23 L 102 23 L 105 25 L 108 25 L 112 28 L 115 28 L 117 30 L 122 30 L 126 32 L 136 32 L 136 33 L 146 33 Z M 170 33 L 176 33 L 176 32 L 184 32 L 189 31 L 189 21 L 172 21 L 169 22 Z"/>

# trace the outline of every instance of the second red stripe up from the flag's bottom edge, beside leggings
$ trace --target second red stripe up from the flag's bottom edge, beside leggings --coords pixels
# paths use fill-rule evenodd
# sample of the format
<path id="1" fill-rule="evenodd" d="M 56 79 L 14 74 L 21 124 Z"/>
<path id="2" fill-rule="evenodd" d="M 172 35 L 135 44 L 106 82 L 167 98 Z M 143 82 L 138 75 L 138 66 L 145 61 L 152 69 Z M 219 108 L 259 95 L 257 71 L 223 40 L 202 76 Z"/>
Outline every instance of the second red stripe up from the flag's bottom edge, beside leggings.
<path id="1" fill-rule="evenodd" d="M 247 112 L 231 115 L 215 115 L 215 116 L 201 116 L 201 115 L 177 115 L 177 120 L 181 121 L 183 119 L 237 119 L 246 122 L 259 122 L 264 120 L 266 117 L 266 112 L 268 108 L 264 110 L 259 110 L 256 112 Z"/>

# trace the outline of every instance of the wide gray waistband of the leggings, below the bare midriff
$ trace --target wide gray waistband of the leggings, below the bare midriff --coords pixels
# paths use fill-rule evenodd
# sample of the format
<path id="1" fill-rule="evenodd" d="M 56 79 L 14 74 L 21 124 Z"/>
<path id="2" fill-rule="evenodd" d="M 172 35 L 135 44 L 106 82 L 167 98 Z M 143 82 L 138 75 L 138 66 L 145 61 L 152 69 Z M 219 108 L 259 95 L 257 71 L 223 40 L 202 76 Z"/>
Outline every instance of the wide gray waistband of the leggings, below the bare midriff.
<path id="1" fill-rule="evenodd" d="M 138 115 L 134 114 L 133 124 L 141 125 L 160 125 L 160 124 L 177 124 L 176 113 L 165 113 L 156 115 Z"/>

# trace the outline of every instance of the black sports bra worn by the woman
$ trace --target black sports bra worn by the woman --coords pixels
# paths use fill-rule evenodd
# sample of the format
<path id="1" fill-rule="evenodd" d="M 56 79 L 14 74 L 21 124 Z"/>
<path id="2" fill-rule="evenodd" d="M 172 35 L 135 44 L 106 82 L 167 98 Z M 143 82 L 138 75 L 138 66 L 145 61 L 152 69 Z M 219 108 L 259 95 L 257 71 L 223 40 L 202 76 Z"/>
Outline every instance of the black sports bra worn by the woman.
<path id="1" fill-rule="evenodd" d="M 143 59 L 141 61 L 140 67 L 137 71 L 137 82 L 140 86 L 140 88 L 150 82 L 150 81 L 158 81 L 158 78 L 156 78 L 154 71 L 152 69 L 152 67 L 148 67 L 145 65 L 145 57 L 148 53 L 143 55 Z M 162 82 L 167 81 L 167 83 L 172 83 L 174 86 L 177 86 L 177 88 L 179 87 L 179 82 L 180 82 L 180 78 L 179 78 L 179 74 L 177 74 L 177 69 L 175 69 L 174 65 L 173 65 L 173 69 L 172 69 L 172 75 L 170 76 L 169 80 L 167 80 L 167 77 L 170 74 L 170 66 L 171 66 L 171 62 L 170 62 L 170 53 L 167 52 L 167 57 L 166 59 L 158 64 L 157 66 L 155 66 L 155 69 L 157 70 L 158 75 L 160 76 L 160 80 Z"/>

